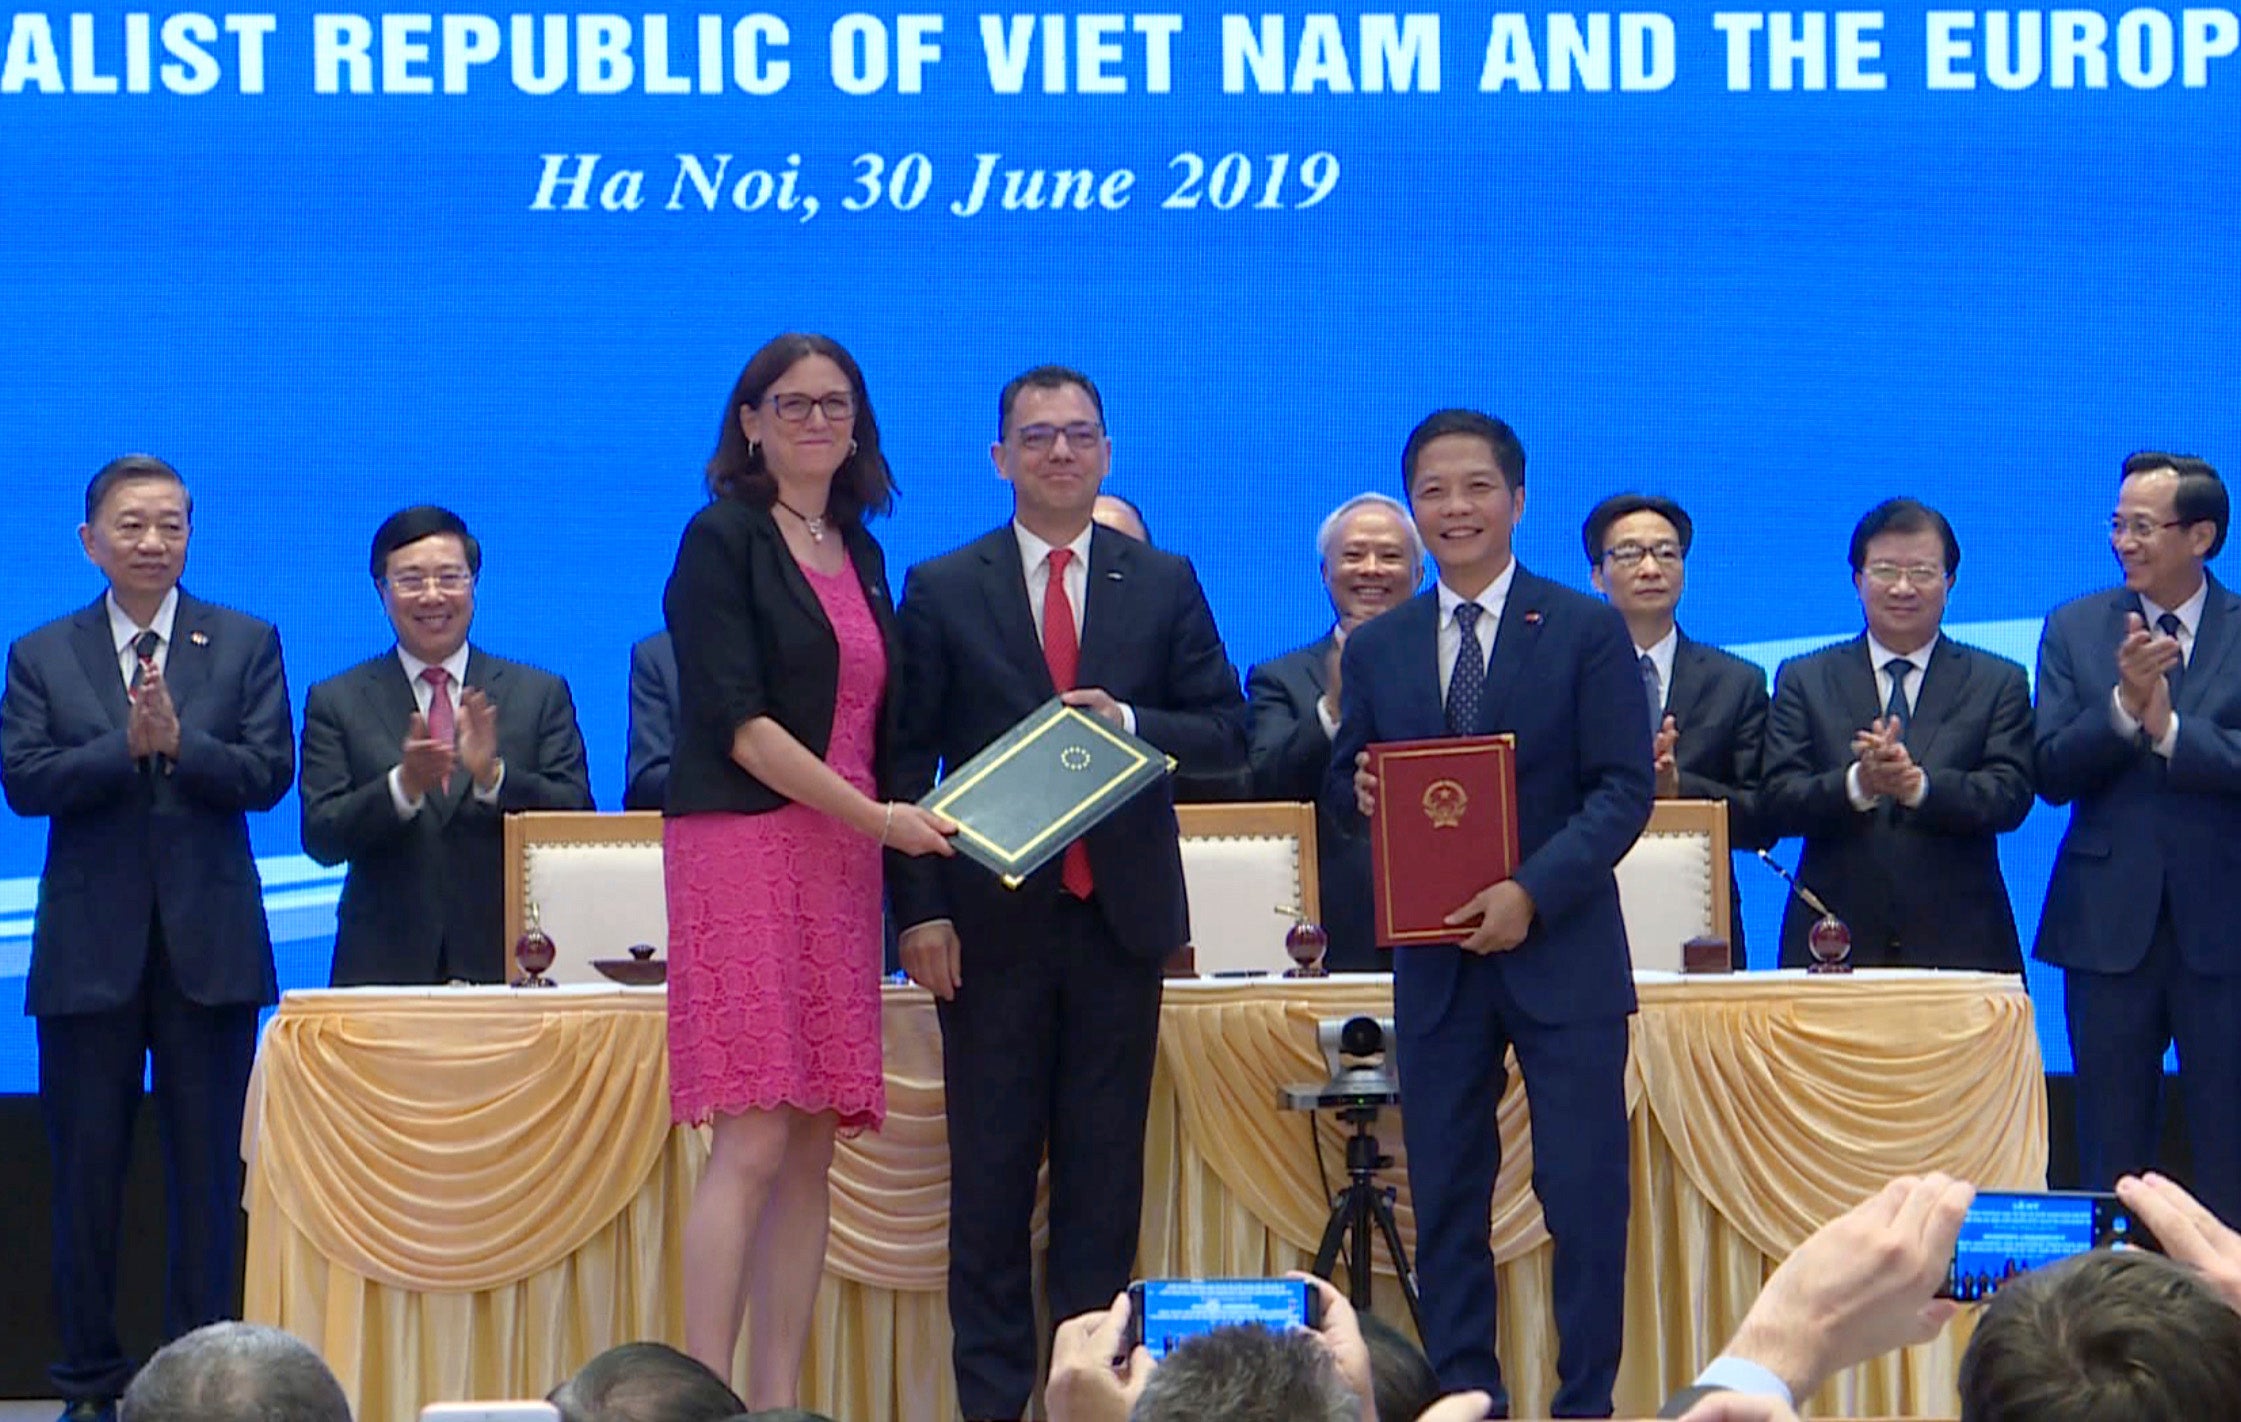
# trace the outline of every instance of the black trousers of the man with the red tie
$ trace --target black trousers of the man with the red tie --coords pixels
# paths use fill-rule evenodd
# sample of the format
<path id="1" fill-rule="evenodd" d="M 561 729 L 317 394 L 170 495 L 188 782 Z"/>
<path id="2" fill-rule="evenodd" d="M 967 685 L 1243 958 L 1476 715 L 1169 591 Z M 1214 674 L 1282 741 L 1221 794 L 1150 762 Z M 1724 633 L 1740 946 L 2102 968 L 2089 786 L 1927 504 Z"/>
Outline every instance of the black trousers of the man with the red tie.
<path id="1" fill-rule="evenodd" d="M 1051 1158 L 1051 1321 L 1129 1283 L 1143 1124 L 1159 1046 L 1159 963 L 1120 949 L 1094 905 L 964 941 L 939 1005 L 950 1117 L 950 1328 L 966 1418 L 1024 1418 L 1035 1388 L 1035 1176 Z"/>

